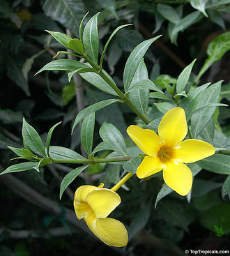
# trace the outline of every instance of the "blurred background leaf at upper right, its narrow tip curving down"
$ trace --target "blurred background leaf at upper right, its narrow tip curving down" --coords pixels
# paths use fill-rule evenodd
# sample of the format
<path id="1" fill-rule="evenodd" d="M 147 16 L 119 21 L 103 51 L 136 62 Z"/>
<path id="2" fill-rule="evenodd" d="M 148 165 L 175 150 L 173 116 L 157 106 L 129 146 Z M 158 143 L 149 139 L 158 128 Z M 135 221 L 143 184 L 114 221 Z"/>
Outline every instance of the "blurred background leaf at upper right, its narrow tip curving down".
<path id="1" fill-rule="evenodd" d="M 204 17 L 198 10 L 194 13 L 190 13 L 189 15 L 183 17 L 180 22 L 176 24 L 174 29 L 171 31 L 171 43 L 176 43 L 174 41 L 174 38 L 176 34 L 178 34 L 180 31 L 184 31 L 188 27 L 192 26 L 192 24 L 198 22 L 201 20 L 201 18 Z"/>

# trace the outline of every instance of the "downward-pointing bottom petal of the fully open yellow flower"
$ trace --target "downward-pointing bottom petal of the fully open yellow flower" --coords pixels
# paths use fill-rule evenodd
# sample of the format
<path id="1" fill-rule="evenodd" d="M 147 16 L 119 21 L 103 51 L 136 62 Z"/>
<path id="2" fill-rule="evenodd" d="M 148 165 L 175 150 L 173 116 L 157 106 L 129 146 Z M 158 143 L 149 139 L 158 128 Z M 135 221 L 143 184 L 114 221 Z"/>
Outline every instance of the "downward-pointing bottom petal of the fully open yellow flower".
<path id="1" fill-rule="evenodd" d="M 183 163 L 166 165 L 163 178 L 167 186 L 180 195 L 187 195 L 192 188 L 192 172 Z"/>

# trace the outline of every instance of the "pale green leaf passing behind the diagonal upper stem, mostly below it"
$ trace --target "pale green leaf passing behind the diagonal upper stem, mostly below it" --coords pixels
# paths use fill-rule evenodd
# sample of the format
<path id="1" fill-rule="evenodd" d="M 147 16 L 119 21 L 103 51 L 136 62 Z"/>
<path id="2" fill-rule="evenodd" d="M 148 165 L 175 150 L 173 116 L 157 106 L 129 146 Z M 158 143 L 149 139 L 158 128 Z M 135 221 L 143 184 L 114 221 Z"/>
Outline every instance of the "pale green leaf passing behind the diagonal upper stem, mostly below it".
<path id="1" fill-rule="evenodd" d="M 86 63 L 86 65 L 90 66 L 89 63 Z M 107 77 L 109 77 L 109 79 L 114 84 L 114 86 L 116 86 L 114 80 L 112 80 L 112 77 L 110 77 L 109 74 L 105 70 L 102 70 L 102 73 L 105 73 L 105 75 L 107 75 Z M 93 86 L 100 89 L 101 91 L 105 91 L 105 93 L 109 93 L 111 95 L 118 96 L 116 91 L 114 91 L 114 89 L 112 89 L 109 86 L 109 84 L 107 82 L 105 82 L 105 80 L 103 80 L 103 78 L 100 75 L 98 75 L 97 73 L 81 73 L 80 76 L 84 80 L 89 82 L 89 84 L 92 84 Z"/>

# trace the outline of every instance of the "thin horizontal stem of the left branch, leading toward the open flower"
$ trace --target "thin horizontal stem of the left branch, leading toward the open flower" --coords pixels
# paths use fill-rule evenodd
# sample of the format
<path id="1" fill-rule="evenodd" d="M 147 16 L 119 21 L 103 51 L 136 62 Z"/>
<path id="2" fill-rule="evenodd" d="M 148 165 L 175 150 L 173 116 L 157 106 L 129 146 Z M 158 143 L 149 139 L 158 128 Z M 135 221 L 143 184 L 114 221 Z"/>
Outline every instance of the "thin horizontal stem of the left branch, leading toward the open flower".
<path id="1" fill-rule="evenodd" d="M 53 163 L 112 163 L 112 162 L 123 162 L 128 161 L 132 156 L 127 156 L 123 158 L 98 158 L 98 159 L 53 159 Z"/>

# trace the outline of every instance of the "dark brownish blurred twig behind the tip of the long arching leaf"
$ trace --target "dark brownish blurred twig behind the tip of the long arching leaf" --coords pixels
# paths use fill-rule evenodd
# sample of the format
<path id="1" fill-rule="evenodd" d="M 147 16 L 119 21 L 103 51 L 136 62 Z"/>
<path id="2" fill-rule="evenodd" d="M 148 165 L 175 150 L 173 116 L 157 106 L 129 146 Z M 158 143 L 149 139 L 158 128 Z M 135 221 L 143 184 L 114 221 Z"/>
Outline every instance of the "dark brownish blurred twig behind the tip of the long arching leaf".
<path id="1" fill-rule="evenodd" d="M 153 38 L 153 35 L 148 32 L 148 30 L 141 24 L 139 24 L 139 31 L 146 36 L 146 38 Z M 162 43 L 162 41 L 160 41 L 159 39 L 156 40 L 154 42 L 155 45 L 157 45 L 162 52 L 164 52 L 165 54 L 167 54 L 169 56 L 169 58 L 171 58 L 175 63 L 178 64 L 179 67 L 181 68 L 185 68 L 187 65 L 185 64 L 185 62 L 178 57 L 176 54 L 174 54 L 174 52 L 172 52 L 166 45 L 164 45 L 164 43 Z"/>

